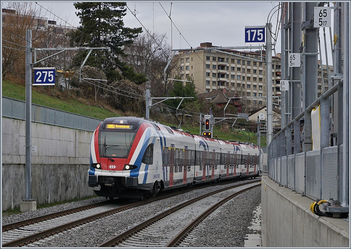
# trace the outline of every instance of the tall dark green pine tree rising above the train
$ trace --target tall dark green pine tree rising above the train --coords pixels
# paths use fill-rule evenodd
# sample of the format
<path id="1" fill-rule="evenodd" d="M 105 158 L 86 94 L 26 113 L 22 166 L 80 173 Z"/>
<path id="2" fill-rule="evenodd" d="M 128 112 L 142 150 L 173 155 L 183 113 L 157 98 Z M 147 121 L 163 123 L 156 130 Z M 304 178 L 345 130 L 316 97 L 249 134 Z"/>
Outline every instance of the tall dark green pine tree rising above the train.
<path id="1" fill-rule="evenodd" d="M 102 69 L 110 81 L 122 76 L 141 84 L 147 81 L 143 74 L 137 74 L 133 68 L 120 61 L 125 56 L 122 46 L 133 43 L 133 39 L 142 32 L 142 28 L 124 27 L 126 15 L 125 2 L 75 2 L 80 18 L 78 30 L 71 34 L 72 46 L 111 47 L 111 51 L 93 50 L 86 64 Z M 87 51 L 75 58 L 79 66 Z M 115 69 L 122 73 L 119 74 Z"/>

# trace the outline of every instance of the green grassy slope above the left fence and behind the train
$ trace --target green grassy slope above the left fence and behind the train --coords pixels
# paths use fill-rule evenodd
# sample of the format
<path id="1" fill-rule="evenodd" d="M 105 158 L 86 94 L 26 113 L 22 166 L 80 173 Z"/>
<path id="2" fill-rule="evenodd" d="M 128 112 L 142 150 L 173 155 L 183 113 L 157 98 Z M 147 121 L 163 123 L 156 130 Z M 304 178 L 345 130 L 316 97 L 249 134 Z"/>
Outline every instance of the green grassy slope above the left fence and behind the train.
<path id="1" fill-rule="evenodd" d="M 121 116 L 117 113 L 113 113 L 108 110 L 101 109 L 99 107 L 95 106 L 87 106 L 86 104 L 83 104 L 81 102 L 78 102 L 76 100 L 62 100 L 59 98 L 51 97 L 46 94 L 39 93 L 35 91 L 35 86 L 32 87 L 32 103 L 34 104 L 39 104 L 42 106 L 47 106 L 63 111 L 69 111 L 71 113 L 76 113 L 80 115 L 85 115 L 89 117 L 95 117 L 97 119 L 106 119 L 107 117 L 115 117 L 115 116 Z M 13 84 L 8 81 L 2 81 L 2 95 L 10 98 L 15 98 L 17 100 L 23 100 L 25 101 L 26 99 L 26 88 L 21 85 Z M 170 124 L 170 123 L 164 123 L 165 125 L 168 126 L 177 126 L 178 124 Z M 199 127 L 188 127 L 188 126 L 182 126 L 181 127 L 183 130 L 188 130 L 192 134 L 199 134 Z M 213 136 L 214 138 L 219 138 L 223 140 L 238 140 L 238 141 L 243 141 L 243 142 L 252 142 L 256 143 L 257 138 L 256 136 L 252 134 L 240 134 L 240 133 L 226 133 L 226 132 L 221 132 L 218 127 L 213 128 Z M 249 137 L 249 140 L 247 140 L 247 137 Z"/>

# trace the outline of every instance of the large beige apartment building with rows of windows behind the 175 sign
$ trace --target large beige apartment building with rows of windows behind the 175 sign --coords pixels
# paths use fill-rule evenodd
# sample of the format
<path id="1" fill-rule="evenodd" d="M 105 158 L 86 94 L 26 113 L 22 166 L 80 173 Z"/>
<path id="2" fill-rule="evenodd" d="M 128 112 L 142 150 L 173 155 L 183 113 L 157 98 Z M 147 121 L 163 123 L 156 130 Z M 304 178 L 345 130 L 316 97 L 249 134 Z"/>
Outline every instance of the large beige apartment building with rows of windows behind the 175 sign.
<path id="1" fill-rule="evenodd" d="M 181 78 L 192 77 L 199 93 L 226 89 L 241 97 L 245 103 L 265 105 L 265 51 L 212 50 L 212 43 L 201 43 L 198 50 L 181 51 Z M 273 57 L 273 96 L 279 96 L 280 54 Z M 257 99 L 256 99 L 257 97 Z"/>

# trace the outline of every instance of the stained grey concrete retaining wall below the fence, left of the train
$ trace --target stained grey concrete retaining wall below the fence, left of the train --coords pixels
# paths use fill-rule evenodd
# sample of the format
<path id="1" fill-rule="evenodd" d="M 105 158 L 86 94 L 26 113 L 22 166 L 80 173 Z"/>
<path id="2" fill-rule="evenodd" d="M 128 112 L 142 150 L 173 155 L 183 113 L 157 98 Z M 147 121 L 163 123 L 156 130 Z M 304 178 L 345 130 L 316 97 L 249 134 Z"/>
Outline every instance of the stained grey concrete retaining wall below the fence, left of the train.
<path id="1" fill-rule="evenodd" d="M 52 203 L 94 194 L 88 187 L 92 133 L 32 123 L 32 198 Z M 25 122 L 2 118 L 2 210 L 25 196 Z"/>

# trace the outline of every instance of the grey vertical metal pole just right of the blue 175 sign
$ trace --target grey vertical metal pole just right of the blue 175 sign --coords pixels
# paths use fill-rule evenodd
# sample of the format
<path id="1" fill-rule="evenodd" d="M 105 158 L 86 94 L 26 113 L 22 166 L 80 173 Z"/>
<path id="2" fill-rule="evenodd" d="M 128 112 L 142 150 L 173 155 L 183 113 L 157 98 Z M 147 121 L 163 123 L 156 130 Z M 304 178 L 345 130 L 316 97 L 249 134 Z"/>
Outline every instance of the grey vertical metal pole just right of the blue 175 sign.
<path id="1" fill-rule="evenodd" d="M 272 140 L 272 131 L 273 131 L 273 109 L 272 109 L 272 36 L 269 30 L 272 30 L 272 24 L 266 24 L 266 70 L 267 70 L 267 146 L 271 143 Z M 269 87 L 270 86 L 270 87 Z"/>

